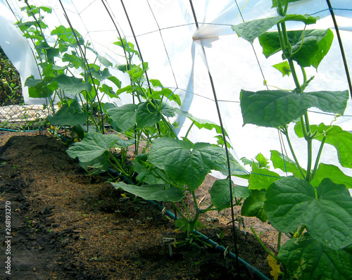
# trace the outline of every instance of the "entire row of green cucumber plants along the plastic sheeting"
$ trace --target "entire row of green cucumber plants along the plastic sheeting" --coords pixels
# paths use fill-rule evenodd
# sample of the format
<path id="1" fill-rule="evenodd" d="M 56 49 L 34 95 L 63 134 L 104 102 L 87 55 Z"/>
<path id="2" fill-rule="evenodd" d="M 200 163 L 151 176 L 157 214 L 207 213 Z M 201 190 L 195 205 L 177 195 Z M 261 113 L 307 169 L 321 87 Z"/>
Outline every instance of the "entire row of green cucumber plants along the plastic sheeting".
<path id="1" fill-rule="evenodd" d="M 281 52 L 283 61 L 274 67 L 294 80 L 294 90 L 241 90 L 244 125 L 275 128 L 286 139 L 288 151 L 271 151 L 270 161 L 261 153 L 253 160 L 242 158 L 241 164 L 235 160 L 225 149 L 222 127 L 180 110 L 180 96 L 158 79 L 148 79 L 148 63 L 142 62 L 131 42 L 117 39 L 114 44 L 125 53 L 125 63 L 113 65 L 70 23 L 68 28 L 61 25 L 49 32 L 43 13 L 51 13 L 51 8 L 30 6 L 27 1 L 23 10 L 32 20 L 20 20 L 17 25 L 32 41 L 42 77 L 30 77 L 25 84 L 32 97 L 49 98 L 52 105 L 59 99 L 60 108 L 55 111 L 52 107 L 48 122 L 72 128 L 76 143 L 68 148 L 70 157 L 78 158 L 89 174 L 117 173 L 111 183 L 117 189 L 146 200 L 172 203 L 179 216 L 175 225 L 187 231 L 187 243 L 204 243 L 197 235 L 203 227 L 200 215 L 241 205 L 242 215 L 269 221 L 279 231 L 276 253 L 265 248 L 258 237 L 270 256 L 275 279 L 349 279 L 352 198 L 348 189 L 352 178 L 337 166 L 320 163 L 320 156 L 326 144 L 332 145 L 341 165 L 351 168 L 352 134 L 333 122 L 310 125 L 308 116 L 309 108 L 336 117 L 343 115 L 348 91 L 306 91 L 314 77 L 308 78 L 305 68 L 318 69 L 334 35 L 331 30 L 306 27 L 287 30 L 289 21 L 311 25 L 318 20 L 309 15 L 288 15 L 289 2 L 273 1 L 276 17 L 232 26 L 249 43 L 258 39 L 266 58 Z M 268 31 L 272 27 L 276 31 Z M 94 61 L 87 60 L 88 53 Z M 112 69 L 127 74 L 130 83 L 122 84 L 111 75 Z M 77 72 L 80 74 L 75 75 Z M 101 102 L 102 96 L 120 98 L 120 94 L 130 95 L 133 102 L 123 106 Z M 175 132 L 177 115 L 191 120 L 181 139 Z M 288 126 L 292 122 L 296 135 L 306 141 L 306 163 L 298 162 L 291 144 Z M 106 132 L 108 127 L 113 133 Z M 191 142 L 188 135 L 195 127 L 215 129 L 218 144 Z M 313 158 L 313 145 L 317 144 L 319 152 Z M 132 164 L 127 158 L 131 146 Z M 251 172 L 244 165 L 249 165 Z M 283 177 L 272 169 L 288 175 Z M 202 207 L 196 190 L 212 170 L 222 172 L 227 179 L 213 184 L 211 204 Z M 249 186 L 235 186 L 231 177 L 248 179 Z M 194 201 L 193 215 L 184 202 L 187 195 Z M 254 230 L 253 234 L 257 236 Z M 289 236 L 283 245 L 282 234 Z"/>

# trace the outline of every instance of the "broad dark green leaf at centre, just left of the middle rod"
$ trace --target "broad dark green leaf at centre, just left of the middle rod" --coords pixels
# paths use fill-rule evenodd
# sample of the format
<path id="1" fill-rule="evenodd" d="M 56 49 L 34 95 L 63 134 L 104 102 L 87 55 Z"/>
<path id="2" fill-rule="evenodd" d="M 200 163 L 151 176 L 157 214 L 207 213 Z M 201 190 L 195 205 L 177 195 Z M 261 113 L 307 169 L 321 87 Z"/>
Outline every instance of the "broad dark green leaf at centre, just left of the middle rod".
<path id="1" fill-rule="evenodd" d="M 168 137 L 153 141 L 149 161 L 175 182 L 197 189 L 210 170 L 226 166 L 224 149 L 208 143 L 180 141 Z"/>

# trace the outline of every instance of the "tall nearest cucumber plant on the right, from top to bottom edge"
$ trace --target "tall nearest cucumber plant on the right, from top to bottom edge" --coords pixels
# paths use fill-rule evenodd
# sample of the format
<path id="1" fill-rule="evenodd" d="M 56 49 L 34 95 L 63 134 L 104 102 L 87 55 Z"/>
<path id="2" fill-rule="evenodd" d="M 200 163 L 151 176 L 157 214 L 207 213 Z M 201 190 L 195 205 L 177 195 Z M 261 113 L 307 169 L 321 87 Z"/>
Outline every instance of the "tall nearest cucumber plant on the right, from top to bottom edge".
<path id="1" fill-rule="evenodd" d="M 339 163 L 352 167 L 352 134 L 331 124 L 310 125 L 309 108 L 326 113 L 344 113 L 348 91 L 305 91 L 312 82 L 305 68 L 314 67 L 322 61 L 332 44 L 331 30 L 288 31 L 290 20 L 310 25 L 318 18 L 309 15 L 287 15 L 289 2 L 273 0 L 278 15 L 232 26 L 239 37 L 253 42 L 258 38 L 266 58 L 279 51 L 283 62 L 274 65 L 282 75 L 291 75 L 296 89 L 246 91 L 241 90 L 241 113 L 244 125 L 274 127 L 286 138 L 291 152 L 282 155 L 271 151 L 272 164 L 292 175 L 281 177 L 268 169 L 268 160 L 258 155 L 251 162 L 249 189 L 242 214 L 257 216 L 279 231 L 277 255 L 268 251 L 270 257 L 281 262 L 283 272 L 276 269 L 275 279 L 350 279 L 352 274 L 352 178 L 339 167 L 320 163 L 325 144 L 337 150 Z M 268 32 L 277 27 L 277 31 Z M 253 31 L 254 30 L 254 31 Z M 297 70 L 303 77 L 298 79 Z M 288 125 L 296 122 L 294 132 L 305 139 L 308 160 L 306 169 L 299 163 L 291 145 Z M 317 143 L 318 142 L 318 143 Z M 320 143 L 320 144 L 319 144 Z M 313 144 L 320 148 L 313 158 Z M 249 160 L 244 162 L 249 163 Z M 290 237 L 281 246 L 282 233 Z M 260 241 L 261 243 L 261 241 Z M 263 244 L 263 243 L 262 243 Z"/>

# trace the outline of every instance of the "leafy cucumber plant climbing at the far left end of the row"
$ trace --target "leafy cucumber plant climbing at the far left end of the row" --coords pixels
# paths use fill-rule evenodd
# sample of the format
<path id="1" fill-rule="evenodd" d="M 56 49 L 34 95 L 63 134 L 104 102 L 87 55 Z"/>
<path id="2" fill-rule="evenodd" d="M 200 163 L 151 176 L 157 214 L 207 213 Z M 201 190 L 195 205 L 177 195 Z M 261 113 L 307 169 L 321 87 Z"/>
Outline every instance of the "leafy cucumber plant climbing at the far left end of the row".
<path id="1" fill-rule="evenodd" d="M 82 35 L 72 26 L 60 25 L 49 31 L 44 23 L 44 14 L 51 13 L 50 7 L 32 6 L 27 1 L 25 4 L 21 9 L 30 19 L 24 21 L 21 18 L 16 25 L 32 42 L 40 73 L 39 79 L 31 76 L 25 81 L 30 97 L 48 98 L 54 114 L 49 119 L 51 125 L 75 126 L 80 135 L 87 131 L 89 125 L 103 132 L 106 108 L 101 98 L 104 95 L 118 98 L 106 81 L 121 87 L 120 80 L 108 70 L 112 63 L 96 53 L 89 42 L 84 42 Z M 95 55 L 93 62 L 87 61 L 88 52 L 93 53 L 93 57 Z M 75 72 L 80 72 L 81 77 L 76 77 Z M 62 106 L 60 113 L 54 109 L 57 99 Z M 80 101 L 82 108 L 77 110 L 77 103 L 71 108 L 70 99 Z M 64 113 L 69 113 L 70 122 L 67 122 L 68 117 Z"/>

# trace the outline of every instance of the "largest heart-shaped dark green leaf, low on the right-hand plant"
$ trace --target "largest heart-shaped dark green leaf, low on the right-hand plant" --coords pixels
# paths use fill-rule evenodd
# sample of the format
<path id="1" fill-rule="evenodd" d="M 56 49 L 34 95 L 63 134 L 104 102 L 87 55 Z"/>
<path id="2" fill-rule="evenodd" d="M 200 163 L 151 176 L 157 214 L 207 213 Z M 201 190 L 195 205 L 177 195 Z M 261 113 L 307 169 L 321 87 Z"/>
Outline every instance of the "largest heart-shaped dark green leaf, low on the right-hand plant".
<path id="1" fill-rule="evenodd" d="M 352 243 L 351 195 L 346 186 L 330 179 L 323 179 L 316 190 L 296 177 L 276 181 L 267 190 L 264 209 L 279 231 L 306 224 L 313 238 L 335 250 Z"/>

